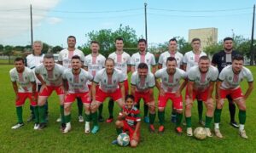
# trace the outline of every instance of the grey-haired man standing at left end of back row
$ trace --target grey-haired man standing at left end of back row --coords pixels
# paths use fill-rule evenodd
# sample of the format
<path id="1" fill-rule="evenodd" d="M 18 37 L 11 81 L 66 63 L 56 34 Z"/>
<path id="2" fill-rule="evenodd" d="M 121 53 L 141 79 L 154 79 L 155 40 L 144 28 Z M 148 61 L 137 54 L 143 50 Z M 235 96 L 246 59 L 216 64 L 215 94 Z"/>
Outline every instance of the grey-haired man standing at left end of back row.
<path id="1" fill-rule="evenodd" d="M 25 65 L 35 71 L 36 66 L 40 65 L 43 63 L 44 60 L 44 54 L 42 54 L 42 49 L 43 49 L 43 42 L 41 41 L 35 41 L 33 42 L 33 53 L 29 54 L 26 56 L 26 62 Z M 37 90 L 39 91 L 41 88 L 41 82 L 39 82 L 38 78 L 36 78 L 37 82 Z M 31 110 L 31 116 L 28 117 L 27 122 L 31 122 L 32 120 L 35 119 L 35 113 L 32 109 L 32 105 L 30 105 L 30 110 Z M 46 100 L 45 103 L 45 110 L 46 110 L 46 120 L 48 116 L 48 101 Z"/>

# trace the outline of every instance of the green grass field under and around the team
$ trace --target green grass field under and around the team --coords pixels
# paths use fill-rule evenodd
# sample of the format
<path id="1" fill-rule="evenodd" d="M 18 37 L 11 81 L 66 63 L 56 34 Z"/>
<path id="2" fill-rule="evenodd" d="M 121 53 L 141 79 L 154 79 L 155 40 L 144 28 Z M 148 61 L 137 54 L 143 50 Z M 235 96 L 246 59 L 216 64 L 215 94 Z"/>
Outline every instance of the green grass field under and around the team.
<path id="1" fill-rule="evenodd" d="M 25 126 L 12 130 L 10 127 L 16 122 L 15 97 L 9 79 L 9 70 L 13 65 L 0 65 L 0 95 L 1 95 L 1 123 L 0 123 L 0 152 L 255 152 L 256 151 L 256 105 L 255 90 L 247 99 L 247 122 L 246 130 L 249 139 L 241 139 L 238 130 L 230 127 L 230 115 L 227 103 L 222 113 L 221 131 L 224 139 L 216 137 L 203 141 L 182 136 L 174 132 L 174 125 L 170 122 L 171 105 L 166 107 L 166 131 L 163 134 L 149 133 L 147 125 L 143 122 L 141 128 L 142 141 L 136 149 L 130 147 L 119 147 L 111 144 L 116 138 L 114 123 L 100 123 L 99 133 L 84 134 L 84 123 L 78 122 L 78 111 L 76 103 L 73 104 L 72 126 L 70 133 L 63 134 L 59 130 L 59 124 L 55 122 L 59 116 L 59 105 L 55 94 L 49 98 L 49 123 L 42 131 L 33 130 L 33 123 L 25 122 Z M 248 67 L 256 76 L 256 67 Z M 242 88 L 245 91 L 247 83 L 243 82 Z M 256 87 L 256 86 L 254 86 Z M 157 95 L 157 93 L 155 93 Z M 23 119 L 29 116 L 29 105 L 23 107 Z M 108 117 L 108 105 L 104 104 L 103 115 Z M 115 105 L 114 113 L 117 115 L 118 106 Z M 192 113 L 192 126 L 198 127 L 196 103 Z M 204 113 L 206 109 L 204 107 Z M 143 114 L 143 113 L 142 113 Z M 238 109 L 236 108 L 236 121 L 238 122 Z M 159 126 L 158 118 L 155 121 Z M 212 124 L 213 127 L 213 124 Z M 185 128 L 183 128 L 185 130 Z"/>

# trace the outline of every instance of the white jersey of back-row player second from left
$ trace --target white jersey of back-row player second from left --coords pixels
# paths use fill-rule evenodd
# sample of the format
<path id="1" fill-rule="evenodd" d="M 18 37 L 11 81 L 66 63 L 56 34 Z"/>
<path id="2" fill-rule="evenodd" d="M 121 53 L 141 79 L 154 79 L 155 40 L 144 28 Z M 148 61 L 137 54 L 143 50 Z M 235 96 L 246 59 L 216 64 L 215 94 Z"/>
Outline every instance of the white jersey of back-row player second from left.
<path id="1" fill-rule="evenodd" d="M 64 68 L 71 68 L 71 58 L 74 55 L 79 55 L 81 61 L 84 62 L 84 53 L 78 48 L 75 48 L 73 51 L 68 51 L 67 48 L 61 50 L 58 60 L 62 62 Z"/>

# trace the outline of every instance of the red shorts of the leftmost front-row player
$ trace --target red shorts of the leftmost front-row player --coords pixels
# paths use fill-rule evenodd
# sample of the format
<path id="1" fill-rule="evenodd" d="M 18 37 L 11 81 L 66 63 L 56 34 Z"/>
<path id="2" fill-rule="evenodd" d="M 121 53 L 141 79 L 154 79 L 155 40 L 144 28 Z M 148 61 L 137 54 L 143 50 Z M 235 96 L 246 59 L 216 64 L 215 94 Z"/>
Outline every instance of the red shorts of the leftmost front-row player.
<path id="1" fill-rule="evenodd" d="M 27 98 L 29 99 L 30 104 L 32 106 L 37 105 L 37 101 L 33 101 L 33 99 L 32 99 L 32 93 L 18 93 L 18 96 L 19 96 L 19 99 L 17 99 L 16 102 L 15 102 L 16 106 L 24 105 Z M 35 96 L 38 97 L 38 93 L 36 93 Z"/>

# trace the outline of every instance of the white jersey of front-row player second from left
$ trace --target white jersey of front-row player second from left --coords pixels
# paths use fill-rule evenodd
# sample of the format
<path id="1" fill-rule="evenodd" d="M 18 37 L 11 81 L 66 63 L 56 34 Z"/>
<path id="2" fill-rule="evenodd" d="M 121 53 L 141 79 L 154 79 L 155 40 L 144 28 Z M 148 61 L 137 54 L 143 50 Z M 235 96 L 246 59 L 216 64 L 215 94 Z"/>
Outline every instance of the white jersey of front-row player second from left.
<path id="1" fill-rule="evenodd" d="M 43 64 L 36 67 L 35 73 L 41 75 L 44 78 L 44 82 L 47 86 L 61 86 L 62 74 L 64 67 L 59 64 L 55 64 L 53 71 L 47 71 Z"/>

